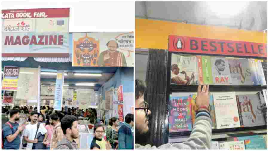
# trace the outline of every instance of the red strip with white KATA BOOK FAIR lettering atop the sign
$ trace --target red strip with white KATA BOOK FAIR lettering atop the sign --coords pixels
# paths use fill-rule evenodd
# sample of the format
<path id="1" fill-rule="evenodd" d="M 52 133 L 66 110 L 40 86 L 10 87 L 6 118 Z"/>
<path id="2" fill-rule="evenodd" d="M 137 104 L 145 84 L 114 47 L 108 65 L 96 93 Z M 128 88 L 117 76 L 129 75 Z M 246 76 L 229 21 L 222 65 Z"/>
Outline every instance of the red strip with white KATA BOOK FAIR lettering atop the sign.
<path id="1" fill-rule="evenodd" d="M 2 10 L 2 19 L 69 17 L 69 8 Z"/>

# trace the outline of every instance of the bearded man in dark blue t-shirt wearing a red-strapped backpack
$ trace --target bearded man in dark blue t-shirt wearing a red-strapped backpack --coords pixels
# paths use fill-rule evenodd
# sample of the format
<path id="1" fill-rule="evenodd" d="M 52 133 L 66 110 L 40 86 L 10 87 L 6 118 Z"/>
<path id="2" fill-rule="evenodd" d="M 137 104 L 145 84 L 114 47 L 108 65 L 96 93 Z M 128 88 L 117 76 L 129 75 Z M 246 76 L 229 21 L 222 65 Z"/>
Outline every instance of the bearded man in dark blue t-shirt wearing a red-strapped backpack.
<path id="1" fill-rule="evenodd" d="M 2 149 L 18 150 L 21 144 L 21 132 L 25 129 L 25 125 L 19 126 L 20 110 L 11 109 L 9 112 L 10 119 L 2 129 Z"/>

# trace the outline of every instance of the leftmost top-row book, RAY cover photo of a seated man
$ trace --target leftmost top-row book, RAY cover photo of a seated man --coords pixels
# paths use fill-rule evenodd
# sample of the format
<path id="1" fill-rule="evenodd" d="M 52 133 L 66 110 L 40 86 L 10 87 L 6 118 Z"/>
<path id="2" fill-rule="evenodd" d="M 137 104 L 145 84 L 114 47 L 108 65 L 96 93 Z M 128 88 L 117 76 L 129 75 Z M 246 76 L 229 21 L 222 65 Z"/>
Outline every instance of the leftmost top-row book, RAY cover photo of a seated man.
<path id="1" fill-rule="evenodd" d="M 196 56 L 172 54 L 171 83 L 178 85 L 198 85 Z"/>

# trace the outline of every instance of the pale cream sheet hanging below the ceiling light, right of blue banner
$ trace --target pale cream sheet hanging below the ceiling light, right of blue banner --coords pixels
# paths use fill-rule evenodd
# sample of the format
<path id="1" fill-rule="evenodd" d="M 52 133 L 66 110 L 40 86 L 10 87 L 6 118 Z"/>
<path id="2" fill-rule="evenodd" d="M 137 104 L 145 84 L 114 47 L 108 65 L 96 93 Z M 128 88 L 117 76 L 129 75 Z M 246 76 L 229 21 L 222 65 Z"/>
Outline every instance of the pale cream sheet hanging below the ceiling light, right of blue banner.
<path id="1" fill-rule="evenodd" d="M 91 95 L 94 93 L 93 89 L 77 89 L 77 100 L 79 101 L 79 108 L 86 109 L 91 104 Z"/>

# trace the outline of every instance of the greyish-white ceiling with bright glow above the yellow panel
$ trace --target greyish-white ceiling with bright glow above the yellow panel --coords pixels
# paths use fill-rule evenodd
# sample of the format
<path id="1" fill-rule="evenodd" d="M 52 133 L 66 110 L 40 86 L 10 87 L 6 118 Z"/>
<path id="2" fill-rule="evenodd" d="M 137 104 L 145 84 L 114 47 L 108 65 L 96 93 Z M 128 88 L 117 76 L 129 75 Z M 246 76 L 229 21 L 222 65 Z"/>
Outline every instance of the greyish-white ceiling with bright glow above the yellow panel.
<path id="1" fill-rule="evenodd" d="M 267 1 L 136 1 L 135 17 L 263 31 L 267 29 Z"/>

